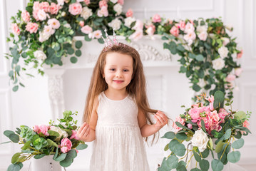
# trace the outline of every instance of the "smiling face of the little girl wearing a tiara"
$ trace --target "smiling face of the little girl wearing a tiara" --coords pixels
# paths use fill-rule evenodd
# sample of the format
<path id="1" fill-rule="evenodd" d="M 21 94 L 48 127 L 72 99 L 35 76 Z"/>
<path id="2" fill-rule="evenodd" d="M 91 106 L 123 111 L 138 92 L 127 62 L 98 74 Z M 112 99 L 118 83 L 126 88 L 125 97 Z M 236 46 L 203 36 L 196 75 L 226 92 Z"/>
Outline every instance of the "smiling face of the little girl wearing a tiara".
<path id="1" fill-rule="evenodd" d="M 133 58 L 122 53 L 106 55 L 103 77 L 109 89 L 126 90 L 133 76 Z"/>

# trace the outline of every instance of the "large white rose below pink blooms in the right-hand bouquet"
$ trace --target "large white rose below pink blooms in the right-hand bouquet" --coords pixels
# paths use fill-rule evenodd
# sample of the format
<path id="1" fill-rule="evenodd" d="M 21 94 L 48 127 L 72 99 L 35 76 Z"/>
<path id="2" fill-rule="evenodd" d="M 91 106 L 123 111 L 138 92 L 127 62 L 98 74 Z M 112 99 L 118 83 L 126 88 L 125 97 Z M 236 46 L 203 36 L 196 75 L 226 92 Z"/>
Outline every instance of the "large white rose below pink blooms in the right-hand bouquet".
<path id="1" fill-rule="evenodd" d="M 202 129 L 195 131 L 195 134 L 191 140 L 192 145 L 198 147 L 200 152 L 203 152 L 203 150 L 207 148 L 208 141 L 209 138 Z"/>

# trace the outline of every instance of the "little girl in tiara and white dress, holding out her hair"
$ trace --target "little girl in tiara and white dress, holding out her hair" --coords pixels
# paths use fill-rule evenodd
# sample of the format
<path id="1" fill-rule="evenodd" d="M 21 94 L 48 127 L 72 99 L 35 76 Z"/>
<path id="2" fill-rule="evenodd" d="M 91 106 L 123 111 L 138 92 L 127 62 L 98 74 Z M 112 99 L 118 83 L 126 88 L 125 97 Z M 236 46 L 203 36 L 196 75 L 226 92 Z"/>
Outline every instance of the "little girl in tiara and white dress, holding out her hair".
<path id="1" fill-rule="evenodd" d="M 143 138 L 168 123 L 149 108 L 140 55 L 134 48 L 106 41 L 91 78 L 80 140 L 93 143 L 91 171 L 148 171 Z M 154 114 L 156 123 L 150 120 Z"/>

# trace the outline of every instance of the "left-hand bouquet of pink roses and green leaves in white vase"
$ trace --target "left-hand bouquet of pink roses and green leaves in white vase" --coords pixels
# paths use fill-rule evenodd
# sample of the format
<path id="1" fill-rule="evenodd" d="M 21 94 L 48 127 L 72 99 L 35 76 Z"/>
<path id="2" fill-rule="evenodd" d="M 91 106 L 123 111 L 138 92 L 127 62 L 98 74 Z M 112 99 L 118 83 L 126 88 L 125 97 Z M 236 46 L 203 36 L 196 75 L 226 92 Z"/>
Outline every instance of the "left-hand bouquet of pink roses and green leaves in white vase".
<path id="1" fill-rule="evenodd" d="M 11 130 L 4 131 L 4 135 L 11 140 L 9 142 L 23 145 L 21 152 L 15 153 L 11 158 L 12 164 L 8 170 L 14 170 L 14 168 L 21 170 L 22 162 L 31 157 L 40 159 L 46 155 L 53 155 L 53 160 L 59 162 L 63 167 L 71 165 L 78 150 L 87 147 L 76 136 L 77 120 L 73 120 L 72 115 L 77 115 L 77 112 L 72 113 L 66 110 L 63 112 L 63 118 L 58 119 L 58 124 L 50 121 L 49 125 L 35 125 L 33 129 L 21 125 L 20 128 L 16 128 L 16 133 Z"/>

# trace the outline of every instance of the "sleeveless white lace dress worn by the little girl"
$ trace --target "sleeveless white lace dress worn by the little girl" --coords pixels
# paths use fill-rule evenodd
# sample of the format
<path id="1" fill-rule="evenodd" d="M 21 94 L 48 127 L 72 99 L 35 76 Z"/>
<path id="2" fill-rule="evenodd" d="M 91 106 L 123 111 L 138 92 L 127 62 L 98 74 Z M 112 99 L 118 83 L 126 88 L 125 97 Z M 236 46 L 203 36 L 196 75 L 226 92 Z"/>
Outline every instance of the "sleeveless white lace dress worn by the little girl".
<path id="1" fill-rule="evenodd" d="M 96 140 L 91 171 L 148 171 L 145 144 L 138 126 L 138 108 L 128 95 L 111 100 L 99 97 Z"/>

